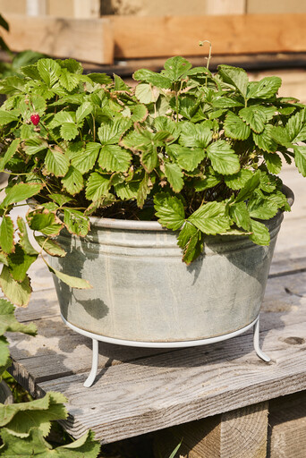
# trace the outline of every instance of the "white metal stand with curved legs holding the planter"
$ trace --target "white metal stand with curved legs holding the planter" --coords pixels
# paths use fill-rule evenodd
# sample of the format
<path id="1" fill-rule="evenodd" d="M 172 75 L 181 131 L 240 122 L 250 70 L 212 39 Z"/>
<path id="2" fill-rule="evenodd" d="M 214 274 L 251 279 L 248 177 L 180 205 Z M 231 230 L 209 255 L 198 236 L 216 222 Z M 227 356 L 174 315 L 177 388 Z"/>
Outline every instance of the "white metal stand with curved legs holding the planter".
<path id="1" fill-rule="evenodd" d="M 67 325 L 81 335 L 86 335 L 92 340 L 92 363 L 91 363 L 91 370 L 89 373 L 89 377 L 87 377 L 86 381 L 84 382 L 84 386 L 89 387 L 91 386 L 95 378 L 97 376 L 98 371 L 98 341 L 106 342 L 107 344 L 119 344 L 119 345 L 126 345 L 131 347 L 147 347 L 147 348 L 185 348 L 185 347 L 195 347 L 198 345 L 207 345 L 207 344 L 215 344 L 216 342 L 221 342 L 223 340 L 231 339 L 236 335 L 240 335 L 253 327 L 253 344 L 255 352 L 258 354 L 259 358 L 264 361 L 270 361 L 270 358 L 267 354 L 261 351 L 259 348 L 259 316 L 254 319 L 250 323 L 250 325 L 246 327 L 242 327 L 238 331 L 234 331 L 233 333 L 228 333 L 224 335 L 218 335 L 217 337 L 210 337 L 208 339 L 201 339 L 201 340 L 190 340 L 190 341 L 178 341 L 178 342 L 140 342 L 140 341 L 132 341 L 132 340 L 122 340 L 122 339 L 114 339 L 112 337 L 106 337 L 105 335 L 98 335 L 94 333 L 89 333 L 89 331 L 84 331 L 80 327 L 76 327 L 69 323 L 63 315 L 61 315 L 64 324 Z"/>

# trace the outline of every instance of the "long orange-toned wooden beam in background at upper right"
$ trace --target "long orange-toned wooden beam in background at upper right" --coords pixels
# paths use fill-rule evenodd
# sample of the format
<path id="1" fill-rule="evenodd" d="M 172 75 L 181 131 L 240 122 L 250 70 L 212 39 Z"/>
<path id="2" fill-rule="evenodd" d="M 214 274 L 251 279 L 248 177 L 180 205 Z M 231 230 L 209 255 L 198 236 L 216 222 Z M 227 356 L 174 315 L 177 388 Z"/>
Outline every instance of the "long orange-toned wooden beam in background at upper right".
<path id="1" fill-rule="evenodd" d="M 115 58 L 301 52 L 306 50 L 306 14 L 228 16 L 108 16 L 114 27 Z"/>

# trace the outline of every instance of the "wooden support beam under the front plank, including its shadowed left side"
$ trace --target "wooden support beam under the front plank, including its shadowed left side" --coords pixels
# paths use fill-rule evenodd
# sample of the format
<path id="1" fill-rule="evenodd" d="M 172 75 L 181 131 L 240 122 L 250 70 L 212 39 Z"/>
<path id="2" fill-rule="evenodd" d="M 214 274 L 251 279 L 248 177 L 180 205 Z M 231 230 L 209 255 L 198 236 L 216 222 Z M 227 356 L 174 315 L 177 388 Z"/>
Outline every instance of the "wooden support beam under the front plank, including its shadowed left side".
<path id="1" fill-rule="evenodd" d="M 266 458 L 268 403 L 162 429 L 154 438 L 157 458 L 168 457 L 180 443 L 180 458 Z"/>

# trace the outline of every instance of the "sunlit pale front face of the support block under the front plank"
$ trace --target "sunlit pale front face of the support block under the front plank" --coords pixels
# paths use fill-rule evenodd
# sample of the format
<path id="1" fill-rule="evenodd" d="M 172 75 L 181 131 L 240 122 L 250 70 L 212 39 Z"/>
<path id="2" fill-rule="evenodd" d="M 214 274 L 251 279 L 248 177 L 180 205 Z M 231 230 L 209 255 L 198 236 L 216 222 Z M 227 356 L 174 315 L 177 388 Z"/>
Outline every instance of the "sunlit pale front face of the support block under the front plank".
<path id="1" fill-rule="evenodd" d="M 267 402 L 223 413 L 220 458 L 266 458 L 267 435 Z"/>

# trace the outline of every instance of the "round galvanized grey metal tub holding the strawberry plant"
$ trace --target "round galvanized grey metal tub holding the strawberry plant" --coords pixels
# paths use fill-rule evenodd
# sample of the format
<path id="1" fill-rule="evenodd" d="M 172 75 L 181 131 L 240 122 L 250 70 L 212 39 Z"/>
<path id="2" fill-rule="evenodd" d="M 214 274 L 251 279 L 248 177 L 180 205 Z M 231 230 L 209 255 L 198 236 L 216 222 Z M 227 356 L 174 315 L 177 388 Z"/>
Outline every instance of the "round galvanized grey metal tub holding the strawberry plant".
<path id="1" fill-rule="evenodd" d="M 72 290 L 55 277 L 62 315 L 74 327 L 131 344 L 234 333 L 259 315 L 282 220 L 279 213 L 268 221 L 268 247 L 242 236 L 210 236 L 186 267 L 176 234 L 157 222 L 93 217 L 85 239 L 62 232 L 58 242 L 68 254 L 51 259 L 93 286 Z"/>

